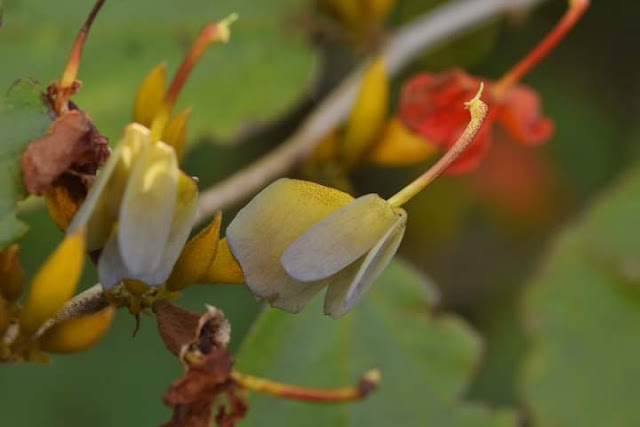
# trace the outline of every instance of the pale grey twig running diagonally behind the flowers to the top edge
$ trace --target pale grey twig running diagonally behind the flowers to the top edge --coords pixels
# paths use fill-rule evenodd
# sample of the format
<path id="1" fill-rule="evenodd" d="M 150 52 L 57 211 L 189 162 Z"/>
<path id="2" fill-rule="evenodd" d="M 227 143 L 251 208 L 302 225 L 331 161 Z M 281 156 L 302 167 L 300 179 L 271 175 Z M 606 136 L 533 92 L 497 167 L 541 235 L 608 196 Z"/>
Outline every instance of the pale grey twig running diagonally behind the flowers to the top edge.
<path id="1" fill-rule="evenodd" d="M 400 28 L 385 44 L 384 57 L 389 75 L 397 74 L 417 55 L 450 37 L 468 31 L 505 12 L 530 8 L 544 0 L 458 0 L 439 7 Z M 271 153 L 200 194 L 196 224 L 219 209 L 261 190 L 284 175 L 310 153 L 323 136 L 342 123 L 351 108 L 365 61 L 334 89 L 309 115 L 296 132 Z"/>

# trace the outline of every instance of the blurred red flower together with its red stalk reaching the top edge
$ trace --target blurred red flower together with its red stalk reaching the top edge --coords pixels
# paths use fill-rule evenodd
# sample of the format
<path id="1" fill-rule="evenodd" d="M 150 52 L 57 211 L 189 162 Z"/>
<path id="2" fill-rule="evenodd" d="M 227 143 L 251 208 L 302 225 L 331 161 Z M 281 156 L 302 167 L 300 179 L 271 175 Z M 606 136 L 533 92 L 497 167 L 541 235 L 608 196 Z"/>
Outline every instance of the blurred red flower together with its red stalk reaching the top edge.
<path id="1" fill-rule="evenodd" d="M 570 0 L 568 9 L 553 29 L 496 82 L 457 69 L 414 76 L 402 88 L 400 119 L 427 142 L 447 150 L 466 123 L 459 101 L 467 99 L 482 81 L 487 85 L 491 112 L 480 135 L 447 173 L 460 174 L 475 169 L 489 149 L 493 132 L 498 127 L 520 144 L 531 146 L 546 142 L 553 132 L 553 122 L 540 112 L 538 95 L 517 82 L 567 35 L 588 7 L 589 0 Z"/>

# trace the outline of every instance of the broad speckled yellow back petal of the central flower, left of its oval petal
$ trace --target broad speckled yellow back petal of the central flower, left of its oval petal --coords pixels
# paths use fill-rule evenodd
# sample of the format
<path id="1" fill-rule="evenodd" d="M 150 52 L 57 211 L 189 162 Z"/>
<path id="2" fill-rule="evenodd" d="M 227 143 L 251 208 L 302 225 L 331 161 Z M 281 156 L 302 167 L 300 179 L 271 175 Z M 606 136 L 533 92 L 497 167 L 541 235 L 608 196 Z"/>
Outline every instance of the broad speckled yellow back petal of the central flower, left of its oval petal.
<path id="1" fill-rule="evenodd" d="M 274 307 L 299 312 L 327 282 L 293 279 L 280 257 L 313 224 L 352 200 L 333 188 L 283 178 L 238 212 L 227 228 L 227 242 L 253 294 Z"/>

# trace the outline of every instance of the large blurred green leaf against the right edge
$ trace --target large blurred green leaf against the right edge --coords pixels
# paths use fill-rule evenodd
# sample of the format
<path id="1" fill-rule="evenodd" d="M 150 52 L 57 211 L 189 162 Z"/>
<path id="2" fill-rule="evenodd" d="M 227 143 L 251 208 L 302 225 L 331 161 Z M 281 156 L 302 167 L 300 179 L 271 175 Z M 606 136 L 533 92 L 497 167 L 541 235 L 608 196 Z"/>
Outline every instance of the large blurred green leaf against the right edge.
<path id="1" fill-rule="evenodd" d="M 555 243 L 527 294 L 527 406 L 541 426 L 640 425 L 640 169 Z"/>

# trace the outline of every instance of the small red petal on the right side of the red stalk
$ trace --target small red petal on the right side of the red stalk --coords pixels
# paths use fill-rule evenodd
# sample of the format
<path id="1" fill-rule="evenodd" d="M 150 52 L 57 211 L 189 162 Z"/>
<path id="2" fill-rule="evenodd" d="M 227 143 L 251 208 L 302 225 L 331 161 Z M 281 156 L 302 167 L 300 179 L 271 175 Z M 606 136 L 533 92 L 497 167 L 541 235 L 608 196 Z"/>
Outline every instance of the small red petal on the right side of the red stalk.
<path id="1" fill-rule="evenodd" d="M 527 86 L 507 91 L 497 120 L 512 139 L 524 145 L 543 144 L 553 133 L 553 122 L 540 111 L 540 97 Z"/>

